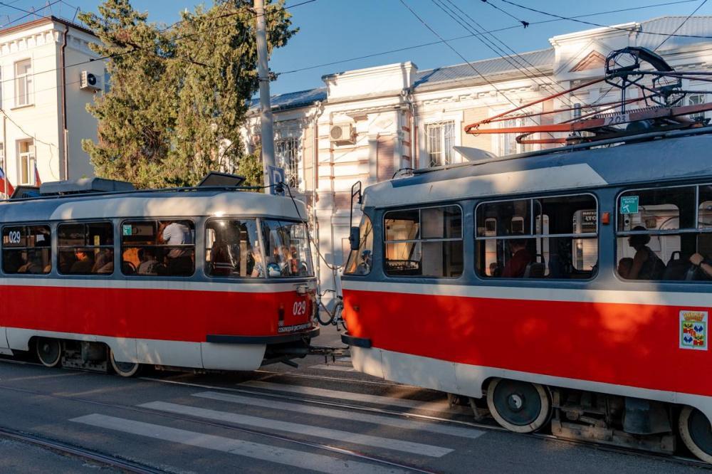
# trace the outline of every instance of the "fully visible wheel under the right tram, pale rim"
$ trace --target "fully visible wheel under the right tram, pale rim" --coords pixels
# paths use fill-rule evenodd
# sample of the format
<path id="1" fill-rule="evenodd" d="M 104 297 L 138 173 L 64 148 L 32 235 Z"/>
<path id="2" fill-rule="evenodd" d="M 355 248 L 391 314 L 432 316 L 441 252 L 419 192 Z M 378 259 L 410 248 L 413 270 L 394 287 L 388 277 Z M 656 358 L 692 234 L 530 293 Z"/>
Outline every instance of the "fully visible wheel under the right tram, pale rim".
<path id="1" fill-rule="evenodd" d="M 515 433 L 537 431 L 551 414 L 549 394 L 542 385 L 509 379 L 491 381 L 487 406 L 497 423 Z"/>

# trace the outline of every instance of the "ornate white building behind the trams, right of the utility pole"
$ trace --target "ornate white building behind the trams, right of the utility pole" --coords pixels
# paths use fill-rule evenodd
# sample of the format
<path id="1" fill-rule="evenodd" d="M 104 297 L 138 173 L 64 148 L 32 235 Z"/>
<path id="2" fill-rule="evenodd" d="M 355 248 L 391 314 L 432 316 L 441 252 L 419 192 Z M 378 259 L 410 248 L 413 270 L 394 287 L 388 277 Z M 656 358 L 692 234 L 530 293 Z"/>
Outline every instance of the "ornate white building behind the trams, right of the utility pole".
<path id="1" fill-rule="evenodd" d="M 344 263 L 349 228 L 360 219 L 356 206 L 350 221 L 351 186 L 356 181 L 368 186 L 391 179 L 399 169 L 461 162 L 456 146 L 498 155 L 537 149 L 539 145 L 517 144 L 515 135 L 468 135 L 464 127 L 602 78 L 606 56 L 626 46 L 656 50 L 676 70 L 711 70 L 712 41 L 687 36 L 712 36 L 712 17 L 685 20 L 668 16 L 580 31 L 551 38 L 551 47 L 544 50 L 431 70 L 418 70 L 410 62 L 350 70 L 323 76 L 322 88 L 273 97 L 277 162 L 311 209 L 314 238 L 326 260 L 318 265 L 322 288 L 338 285 L 333 267 Z M 674 32 L 681 36 L 658 48 Z M 684 88 L 703 90 L 705 84 L 686 83 Z M 545 100 L 535 110 L 617 99 L 619 90 L 598 83 Z M 706 95 L 688 95 L 687 100 L 705 102 Z M 542 120 L 560 122 L 572 113 L 545 115 Z M 533 125 L 526 120 L 501 126 Z M 258 144 L 256 109 L 245 136 L 248 148 Z"/>

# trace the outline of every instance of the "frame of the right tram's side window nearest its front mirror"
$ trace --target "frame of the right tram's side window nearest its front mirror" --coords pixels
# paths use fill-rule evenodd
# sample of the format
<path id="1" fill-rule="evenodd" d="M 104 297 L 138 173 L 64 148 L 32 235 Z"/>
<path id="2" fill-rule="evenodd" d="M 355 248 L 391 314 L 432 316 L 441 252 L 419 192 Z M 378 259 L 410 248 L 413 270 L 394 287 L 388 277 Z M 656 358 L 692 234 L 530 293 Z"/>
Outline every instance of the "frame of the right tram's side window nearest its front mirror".
<path id="1" fill-rule="evenodd" d="M 459 214 L 460 214 L 460 235 L 459 237 L 442 237 L 442 238 L 436 238 L 436 237 L 423 237 L 423 226 L 422 226 L 422 211 L 424 209 L 446 209 L 449 207 L 455 207 L 458 209 Z M 400 239 L 400 240 L 388 240 L 387 239 L 387 232 L 388 228 L 386 225 L 386 221 L 388 219 L 388 215 L 392 213 L 397 213 L 397 212 L 408 212 L 408 211 L 417 211 L 418 212 L 418 228 L 417 228 L 417 235 L 413 236 L 414 238 L 408 238 L 408 239 Z M 465 272 L 465 251 L 464 251 L 464 226 L 465 226 L 465 213 L 464 209 L 460 204 L 457 203 L 449 203 L 449 204 L 441 204 L 440 206 L 419 206 L 419 207 L 408 207 L 408 208 L 403 208 L 403 209 L 389 209 L 387 211 L 384 211 L 383 213 L 383 242 L 382 242 L 382 255 L 383 255 L 383 272 L 384 275 L 386 275 L 388 278 L 438 278 L 438 279 L 448 279 L 448 280 L 456 280 L 458 278 L 461 278 L 462 275 L 464 275 Z M 445 235 L 446 231 L 443 232 L 443 235 Z M 414 251 L 416 248 L 419 249 L 419 255 L 420 255 L 420 274 L 416 275 L 407 275 L 407 274 L 398 274 L 398 273 L 392 273 L 392 270 L 389 270 L 388 268 L 388 263 L 389 261 L 397 261 L 397 260 L 389 260 L 388 259 L 388 246 L 389 244 L 396 245 L 399 243 L 412 243 L 411 251 Z M 427 245 L 429 243 L 451 243 L 449 251 L 451 252 L 451 255 L 454 255 L 456 251 L 458 251 L 457 248 L 457 243 L 460 243 L 459 245 L 459 255 L 460 255 L 460 261 L 461 261 L 461 267 L 459 268 L 459 273 L 456 275 L 424 275 L 422 274 L 422 260 L 423 260 L 423 254 L 424 254 L 424 244 Z M 444 254 L 445 249 L 444 246 L 441 247 L 440 253 Z M 445 269 L 445 264 L 443 265 L 443 270 Z"/>

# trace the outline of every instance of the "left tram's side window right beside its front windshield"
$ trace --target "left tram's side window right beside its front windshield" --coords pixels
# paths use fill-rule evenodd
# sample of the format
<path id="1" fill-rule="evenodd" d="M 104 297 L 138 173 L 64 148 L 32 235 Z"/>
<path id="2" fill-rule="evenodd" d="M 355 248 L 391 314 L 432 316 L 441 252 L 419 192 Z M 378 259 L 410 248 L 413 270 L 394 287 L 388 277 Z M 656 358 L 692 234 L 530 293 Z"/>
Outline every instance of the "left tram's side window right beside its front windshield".
<path id="1" fill-rule="evenodd" d="M 205 225 L 205 268 L 215 277 L 264 278 L 254 219 L 213 219 Z"/>

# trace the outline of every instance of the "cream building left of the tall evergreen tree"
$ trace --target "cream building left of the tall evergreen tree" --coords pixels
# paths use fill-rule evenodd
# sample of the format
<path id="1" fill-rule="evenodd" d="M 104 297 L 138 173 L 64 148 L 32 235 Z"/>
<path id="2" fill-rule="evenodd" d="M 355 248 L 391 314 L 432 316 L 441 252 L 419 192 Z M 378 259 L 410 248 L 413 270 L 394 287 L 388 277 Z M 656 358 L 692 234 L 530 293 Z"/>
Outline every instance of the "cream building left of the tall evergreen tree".
<path id="1" fill-rule="evenodd" d="M 93 176 L 82 139 L 97 139 L 86 110 L 104 87 L 89 30 L 49 17 L 0 30 L 0 166 L 13 186 Z M 4 193 L 0 189 L 0 193 Z"/>

